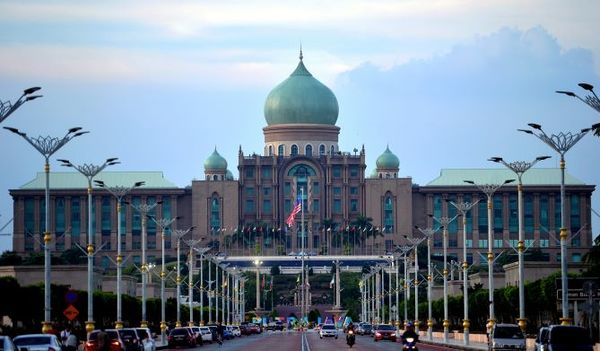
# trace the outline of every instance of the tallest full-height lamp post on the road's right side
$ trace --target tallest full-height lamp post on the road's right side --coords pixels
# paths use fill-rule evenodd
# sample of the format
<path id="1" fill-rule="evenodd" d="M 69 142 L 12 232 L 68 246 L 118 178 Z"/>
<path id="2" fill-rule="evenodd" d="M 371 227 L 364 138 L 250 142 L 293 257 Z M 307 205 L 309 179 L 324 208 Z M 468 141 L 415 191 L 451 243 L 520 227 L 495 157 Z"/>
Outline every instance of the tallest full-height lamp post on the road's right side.
<path id="1" fill-rule="evenodd" d="M 533 130 L 519 129 L 519 131 L 534 135 L 560 155 L 560 273 L 562 283 L 562 318 L 560 320 L 561 324 L 569 325 L 571 319 L 569 318 L 569 283 L 567 280 L 567 237 L 569 234 L 565 227 L 567 224 L 565 214 L 565 154 L 590 130 L 599 128 L 600 123 L 575 133 L 560 132 L 558 134 L 550 135 L 546 134 L 539 124 L 529 123 L 528 125 L 533 128 Z"/>

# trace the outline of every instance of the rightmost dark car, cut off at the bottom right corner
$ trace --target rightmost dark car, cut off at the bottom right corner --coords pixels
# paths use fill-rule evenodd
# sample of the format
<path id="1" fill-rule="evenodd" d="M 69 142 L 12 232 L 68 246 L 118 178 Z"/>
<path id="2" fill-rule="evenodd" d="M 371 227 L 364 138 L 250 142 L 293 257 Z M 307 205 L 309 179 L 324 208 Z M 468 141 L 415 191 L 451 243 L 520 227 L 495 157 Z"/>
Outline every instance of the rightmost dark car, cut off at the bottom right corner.
<path id="1" fill-rule="evenodd" d="M 589 331 L 574 325 L 552 325 L 548 328 L 545 351 L 592 351 Z"/>

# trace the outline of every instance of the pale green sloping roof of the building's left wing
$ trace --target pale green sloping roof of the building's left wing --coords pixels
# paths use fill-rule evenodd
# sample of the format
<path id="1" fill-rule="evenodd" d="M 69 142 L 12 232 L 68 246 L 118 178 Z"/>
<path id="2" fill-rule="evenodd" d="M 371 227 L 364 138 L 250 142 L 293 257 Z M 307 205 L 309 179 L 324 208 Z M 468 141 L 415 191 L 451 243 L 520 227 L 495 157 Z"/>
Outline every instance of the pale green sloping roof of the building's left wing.
<path id="1" fill-rule="evenodd" d="M 177 185 L 165 179 L 162 172 L 100 172 L 94 180 L 101 180 L 107 186 L 132 186 L 135 182 L 143 181 L 145 184 L 140 189 L 177 188 Z M 79 172 L 50 172 L 51 189 L 85 189 L 87 186 L 87 178 Z M 45 187 L 45 173 L 38 172 L 35 179 L 19 189 L 45 189 Z"/>

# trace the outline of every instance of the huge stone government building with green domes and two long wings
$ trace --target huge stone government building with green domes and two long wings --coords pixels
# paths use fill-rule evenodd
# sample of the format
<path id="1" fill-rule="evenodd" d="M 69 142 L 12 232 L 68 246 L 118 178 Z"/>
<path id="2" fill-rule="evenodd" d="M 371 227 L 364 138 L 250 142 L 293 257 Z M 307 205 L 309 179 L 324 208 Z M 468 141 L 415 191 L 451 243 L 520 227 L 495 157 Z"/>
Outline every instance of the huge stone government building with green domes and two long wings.
<path id="1" fill-rule="evenodd" d="M 389 147 L 379 150 L 373 172 L 366 174 L 366 150 L 340 150 L 338 101 L 334 93 L 306 68 L 302 55 L 291 75 L 266 98 L 262 154 L 240 147 L 237 170 L 217 151 L 207 152 L 202 180 L 178 187 L 161 172 L 109 172 L 95 179 L 108 186 L 145 185 L 125 196 L 121 211 L 122 249 L 140 264 L 142 234 L 147 238 L 148 261 L 161 257 L 161 228 L 152 220 L 143 228 L 140 204 L 157 205 L 154 218 L 178 217 L 165 228 L 166 255 L 173 259 L 178 238 L 173 229 L 194 227 L 184 239 L 228 256 L 384 255 L 406 237 L 420 237 L 415 229 L 437 228 L 433 217 L 457 215 L 450 202 L 475 202 L 468 212 L 467 230 L 457 218 L 447 226 L 450 259 L 462 261 L 466 235 L 468 261 L 484 264 L 479 255 L 488 248 L 487 197 L 464 180 L 476 184 L 516 179 L 508 169 L 443 169 L 426 185 L 402 175 L 400 162 Z M 258 131 L 257 131 L 258 132 Z M 415 152 L 412 150 L 411 152 Z M 27 180 L 24 180 L 24 182 Z M 549 262 L 560 261 L 560 170 L 533 168 L 525 173 L 525 244 L 541 249 Z M 14 201 L 13 248 L 20 255 L 42 252 L 44 228 L 44 173 L 11 189 Z M 570 231 L 568 261 L 580 262 L 592 246 L 591 196 L 594 185 L 566 176 L 566 227 Z M 302 211 L 291 226 L 286 219 L 301 201 Z M 77 172 L 50 174 L 49 232 L 54 255 L 85 247 L 91 220 L 96 264 L 109 268 L 108 256 L 117 250 L 117 200 L 94 187 L 88 218 L 87 179 Z M 516 247 L 518 241 L 517 186 L 502 186 L 493 196 L 494 250 Z M 304 229 L 304 230 L 302 230 Z M 433 240 L 434 255 L 442 254 L 441 230 Z"/>

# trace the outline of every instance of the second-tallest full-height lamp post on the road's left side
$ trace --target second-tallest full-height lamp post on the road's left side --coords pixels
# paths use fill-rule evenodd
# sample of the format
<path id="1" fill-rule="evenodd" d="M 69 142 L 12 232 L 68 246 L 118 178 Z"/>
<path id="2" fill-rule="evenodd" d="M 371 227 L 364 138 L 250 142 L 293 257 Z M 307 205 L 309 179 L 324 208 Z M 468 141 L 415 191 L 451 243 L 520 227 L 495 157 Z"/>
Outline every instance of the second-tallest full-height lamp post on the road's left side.
<path id="1" fill-rule="evenodd" d="M 104 168 L 118 164 L 118 158 L 113 157 L 106 159 L 103 164 L 96 166 L 93 164 L 84 163 L 83 165 L 74 165 L 69 160 L 58 160 L 61 162 L 61 166 L 74 168 L 77 172 L 83 174 L 88 181 L 88 246 L 87 246 L 87 259 L 88 259 L 88 320 L 85 322 L 85 330 L 90 333 L 94 330 L 94 229 L 92 228 L 92 179 Z"/>

